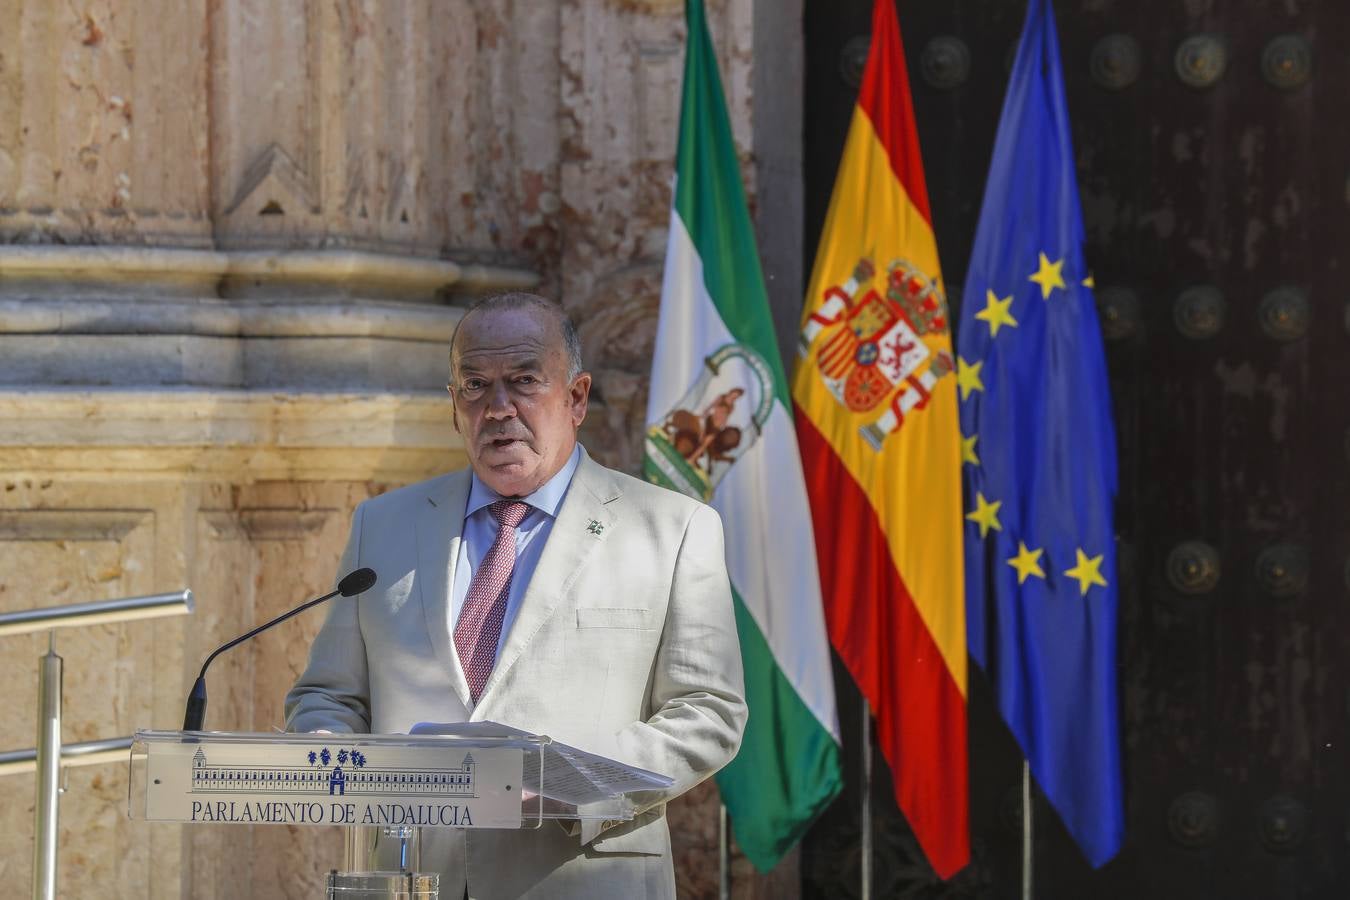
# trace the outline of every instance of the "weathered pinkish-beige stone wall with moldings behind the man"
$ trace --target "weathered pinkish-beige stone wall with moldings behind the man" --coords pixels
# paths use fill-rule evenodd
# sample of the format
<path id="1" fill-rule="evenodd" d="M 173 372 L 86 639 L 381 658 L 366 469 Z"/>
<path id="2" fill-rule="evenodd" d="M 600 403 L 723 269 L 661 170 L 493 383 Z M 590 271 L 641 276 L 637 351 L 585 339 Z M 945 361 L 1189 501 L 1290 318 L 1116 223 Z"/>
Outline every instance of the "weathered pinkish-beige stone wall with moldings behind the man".
<path id="1" fill-rule="evenodd" d="M 799 100 L 753 99 L 796 85 L 801 1 L 709 8 L 795 310 Z M 583 440 L 636 467 L 682 0 L 0 0 L 0 611 L 197 596 L 58 633 L 65 741 L 177 727 L 211 648 L 327 588 L 358 502 L 463 464 L 444 363 L 474 296 L 562 300 L 595 374 Z M 317 625 L 221 657 L 209 727 L 278 726 Z M 45 649 L 0 642 L 0 750 L 32 746 Z M 63 896 L 316 896 L 339 861 L 323 830 L 128 822 L 126 779 L 69 770 Z M 8 884 L 32 796 L 0 779 Z M 671 818 L 682 896 L 716 896 L 716 792 Z M 794 866 L 737 860 L 736 895 L 791 896 Z"/>

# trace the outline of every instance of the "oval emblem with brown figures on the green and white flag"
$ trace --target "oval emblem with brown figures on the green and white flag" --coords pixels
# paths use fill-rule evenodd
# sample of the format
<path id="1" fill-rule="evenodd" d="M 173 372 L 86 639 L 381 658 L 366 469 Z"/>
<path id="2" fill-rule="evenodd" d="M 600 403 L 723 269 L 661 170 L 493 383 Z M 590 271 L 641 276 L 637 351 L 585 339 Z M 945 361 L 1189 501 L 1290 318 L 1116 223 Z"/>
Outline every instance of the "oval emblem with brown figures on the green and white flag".
<path id="1" fill-rule="evenodd" d="M 745 344 L 703 359 L 698 378 L 666 417 L 647 428 L 648 480 L 705 503 L 755 441 L 774 410 L 774 372 Z"/>

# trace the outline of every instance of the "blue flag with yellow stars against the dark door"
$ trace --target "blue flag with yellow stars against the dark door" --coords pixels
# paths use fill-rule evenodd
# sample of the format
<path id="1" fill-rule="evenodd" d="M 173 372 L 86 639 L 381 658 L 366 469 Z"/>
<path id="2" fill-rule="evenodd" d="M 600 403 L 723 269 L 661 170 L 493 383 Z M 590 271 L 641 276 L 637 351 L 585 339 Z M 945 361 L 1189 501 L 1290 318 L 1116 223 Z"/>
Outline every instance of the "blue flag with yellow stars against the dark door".
<path id="1" fill-rule="evenodd" d="M 957 341 L 967 636 L 1094 866 L 1120 847 L 1115 432 L 1054 15 L 1030 0 Z"/>

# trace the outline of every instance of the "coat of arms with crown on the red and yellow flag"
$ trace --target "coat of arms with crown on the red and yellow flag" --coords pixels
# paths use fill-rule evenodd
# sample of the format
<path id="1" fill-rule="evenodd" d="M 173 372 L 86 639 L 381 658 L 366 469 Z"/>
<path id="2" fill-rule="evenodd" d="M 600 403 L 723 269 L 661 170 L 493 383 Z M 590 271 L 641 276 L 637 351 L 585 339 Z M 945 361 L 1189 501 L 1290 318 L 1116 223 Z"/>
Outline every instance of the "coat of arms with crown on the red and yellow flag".
<path id="1" fill-rule="evenodd" d="M 875 275 L 864 258 L 846 282 L 829 287 L 802 328 L 799 351 L 809 359 L 814 348 L 821 379 L 840 403 L 875 414 L 860 430 L 879 451 L 906 416 L 927 405 L 956 363 L 950 352 L 934 352 L 923 340 L 948 333 L 942 289 L 903 259 L 890 264 L 880 290 L 872 285 Z"/>

